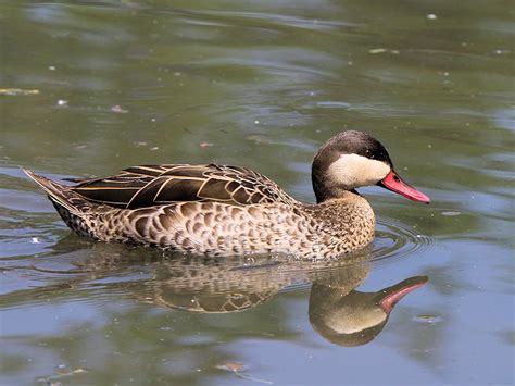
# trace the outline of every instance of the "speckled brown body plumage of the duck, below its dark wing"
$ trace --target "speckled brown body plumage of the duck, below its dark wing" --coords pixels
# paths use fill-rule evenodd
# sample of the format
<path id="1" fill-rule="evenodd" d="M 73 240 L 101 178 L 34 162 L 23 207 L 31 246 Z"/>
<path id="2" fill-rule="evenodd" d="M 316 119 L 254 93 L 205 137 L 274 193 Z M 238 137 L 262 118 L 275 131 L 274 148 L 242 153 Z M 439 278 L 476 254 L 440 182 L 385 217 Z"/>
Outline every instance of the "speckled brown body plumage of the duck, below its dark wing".
<path id="1" fill-rule="evenodd" d="M 329 258 L 360 249 L 374 237 L 374 212 L 364 198 L 352 192 L 304 206 L 276 187 L 274 196 L 261 196 L 263 203 L 205 198 L 122 209 L 87 200 L 74 188 L 29 175 L 54 195 L 50 197 L 70 228 L 102 241 L 212 256 L 279 252 Z M 63 206 L 63 200 L 74 210 Z"/>

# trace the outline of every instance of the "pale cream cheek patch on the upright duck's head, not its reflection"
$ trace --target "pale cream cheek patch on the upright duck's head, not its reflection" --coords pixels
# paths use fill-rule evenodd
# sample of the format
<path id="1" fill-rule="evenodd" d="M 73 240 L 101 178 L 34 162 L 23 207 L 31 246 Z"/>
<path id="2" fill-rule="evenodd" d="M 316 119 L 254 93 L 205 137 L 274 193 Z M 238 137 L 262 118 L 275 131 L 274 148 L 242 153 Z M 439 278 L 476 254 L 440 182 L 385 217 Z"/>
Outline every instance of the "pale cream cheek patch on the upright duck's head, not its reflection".
<path id="1" fill-rule="evenodd" d="M 382 161 L 370 160 L 357 154 L 342 154 L 328 170 L 328 177 L 348 189 L 375 185 L 390 173 L 390 166 Z"/>

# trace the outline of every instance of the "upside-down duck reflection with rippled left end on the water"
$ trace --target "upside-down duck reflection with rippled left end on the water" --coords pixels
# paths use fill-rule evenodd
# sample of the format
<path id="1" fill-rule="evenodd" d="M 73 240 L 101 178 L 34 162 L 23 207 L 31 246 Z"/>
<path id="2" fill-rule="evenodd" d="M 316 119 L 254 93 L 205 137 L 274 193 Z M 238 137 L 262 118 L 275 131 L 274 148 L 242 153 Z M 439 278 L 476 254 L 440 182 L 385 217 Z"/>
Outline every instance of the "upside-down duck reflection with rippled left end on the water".
<path id="1" fill-rule="evenodd" d="M 75 240 L 63 239 L 54 251 L 70 250 Z M 205 258 L 103 244 L 83 251 L 83 256 L 76 250 L 60 253 L 61 263 L 68 260 L 64 270 L 61 263 L 55 266 L 54 259 L 34 270 L 58 279 L 55 288 L 101 286 L 104 291 L 122 291 L 142 302 L 192 313 L 243 312 L 281 290 L 311 284 L 309 317 L 313 329 L 332 344 L 348 347 L 373 340 L 394 304 L 428 281 L 414 276 L 375 292 L 356 290 L 377 258 L 372 250 L 334 261 L 281 256 Z"/>

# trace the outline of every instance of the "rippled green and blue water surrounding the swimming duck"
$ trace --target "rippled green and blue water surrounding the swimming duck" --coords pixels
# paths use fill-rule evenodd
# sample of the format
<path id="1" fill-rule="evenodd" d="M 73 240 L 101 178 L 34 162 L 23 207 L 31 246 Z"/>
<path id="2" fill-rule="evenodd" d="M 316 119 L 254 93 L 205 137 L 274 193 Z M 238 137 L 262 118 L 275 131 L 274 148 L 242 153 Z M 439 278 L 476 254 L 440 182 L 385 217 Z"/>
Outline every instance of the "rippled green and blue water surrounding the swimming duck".
<path id="1" fill-rule="evenodd" d="M 0 383 L 513 384 L 514 25 L 511 1 L 2 1 Z M 20 170 L 218 162 L 313 201 L 343 129 L 432 199 L 361 190 L 372 264 L 95 244 Z M 378 331 L 327 333 L 420 275 Z"/>

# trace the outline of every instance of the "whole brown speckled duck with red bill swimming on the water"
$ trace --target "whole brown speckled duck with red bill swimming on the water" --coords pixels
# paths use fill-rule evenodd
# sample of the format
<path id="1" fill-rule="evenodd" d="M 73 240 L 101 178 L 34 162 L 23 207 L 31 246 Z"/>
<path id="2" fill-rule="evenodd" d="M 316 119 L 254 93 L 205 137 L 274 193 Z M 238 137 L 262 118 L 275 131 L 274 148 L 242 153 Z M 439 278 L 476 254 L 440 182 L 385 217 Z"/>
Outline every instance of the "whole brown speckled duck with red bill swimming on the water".
<path id="1" fill-rule="evenodd" d="M 316 203 L 296 200 L 250 169 L 214 163 L 133 166 L 67 179 L 74 185 L 24 172 L 79 236 L 214 257 L 338 259 L 374 239 L 375 214 L 357 188 L 377 185 L 430 202 L 399 176 L 377 139 L 356 130 L 339 133 L 314 155 Z"/>

